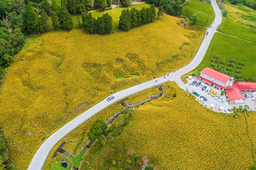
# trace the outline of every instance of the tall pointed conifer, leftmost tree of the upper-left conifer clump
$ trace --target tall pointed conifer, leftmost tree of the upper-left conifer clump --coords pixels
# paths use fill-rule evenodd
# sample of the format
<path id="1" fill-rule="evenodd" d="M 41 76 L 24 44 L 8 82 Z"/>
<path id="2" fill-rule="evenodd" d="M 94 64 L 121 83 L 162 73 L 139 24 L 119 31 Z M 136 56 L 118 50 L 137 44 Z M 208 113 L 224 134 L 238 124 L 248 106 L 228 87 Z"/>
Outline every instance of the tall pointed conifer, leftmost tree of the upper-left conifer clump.
<path id="1" fill-rule="evenodd" d="M 28 33 L 39 32 L 39 17 L 31 3 L 27 2 L 26 11 L 24 14 L 24 23 Z"/>

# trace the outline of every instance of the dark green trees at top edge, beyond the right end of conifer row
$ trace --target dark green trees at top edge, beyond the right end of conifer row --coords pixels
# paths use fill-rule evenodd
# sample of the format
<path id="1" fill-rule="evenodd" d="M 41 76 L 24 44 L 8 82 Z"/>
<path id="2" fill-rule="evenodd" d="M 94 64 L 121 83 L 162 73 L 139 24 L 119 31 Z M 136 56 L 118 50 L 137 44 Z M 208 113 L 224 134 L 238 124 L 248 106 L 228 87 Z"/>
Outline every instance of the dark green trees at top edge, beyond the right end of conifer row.
<path id="1" fill-rule="evenodd" d="M 180 16 L 185 0 L 146 0 L 148 4 L 160 5 L 160 10 L 172 16 Z"/>

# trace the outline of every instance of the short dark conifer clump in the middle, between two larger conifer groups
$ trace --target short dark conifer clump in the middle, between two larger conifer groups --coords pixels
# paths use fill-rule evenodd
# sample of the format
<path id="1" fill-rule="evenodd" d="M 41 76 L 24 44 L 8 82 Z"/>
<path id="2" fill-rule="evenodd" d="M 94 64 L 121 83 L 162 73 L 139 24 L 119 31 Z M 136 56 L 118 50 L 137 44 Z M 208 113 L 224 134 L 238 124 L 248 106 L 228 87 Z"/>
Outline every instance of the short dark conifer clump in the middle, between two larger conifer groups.
<path id="1" fill-rule="evenodd" d="M 112 31 L 112 17 L 108 13 L 97 19 L 93 18 L 91 13 L 82 13 L 82 20 L 86 33 L 106 34 Z"/>

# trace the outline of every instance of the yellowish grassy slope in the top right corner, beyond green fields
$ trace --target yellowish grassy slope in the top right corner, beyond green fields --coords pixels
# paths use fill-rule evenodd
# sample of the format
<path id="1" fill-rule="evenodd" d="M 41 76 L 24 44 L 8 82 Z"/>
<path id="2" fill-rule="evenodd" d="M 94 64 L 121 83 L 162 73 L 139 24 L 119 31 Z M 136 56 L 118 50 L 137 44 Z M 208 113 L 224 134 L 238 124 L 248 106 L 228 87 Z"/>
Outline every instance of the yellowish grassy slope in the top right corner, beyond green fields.
<path id="1" fill-rule="evenodd" d="M 240 5 L 224 4 L 225 10 L 228 11 L 227 18 L 246 26 L 256 29 L 256 12 L 255 10 Z"/>

